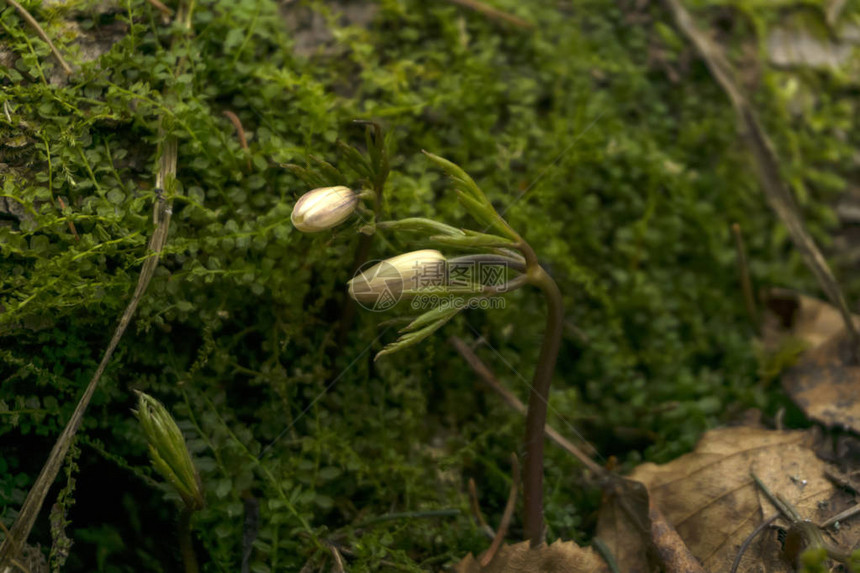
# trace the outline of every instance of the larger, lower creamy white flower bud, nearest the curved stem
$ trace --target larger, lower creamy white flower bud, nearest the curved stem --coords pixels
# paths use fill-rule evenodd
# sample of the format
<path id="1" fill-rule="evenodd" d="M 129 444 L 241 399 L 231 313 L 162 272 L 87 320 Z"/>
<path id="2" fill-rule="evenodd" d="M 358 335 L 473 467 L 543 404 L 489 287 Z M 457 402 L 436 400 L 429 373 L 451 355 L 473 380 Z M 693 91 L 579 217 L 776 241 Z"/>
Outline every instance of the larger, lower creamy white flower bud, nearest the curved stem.
<path id="1" fill-rule="evenodd" d="M 384 310 L 400 300 L 404 291 L 425 286 L 422 281 L 427 277 L 444 277 L 445 273 L 442 253 L 412 251 L 360 270 L 349 281 L 349 296 L 366 308 Z"/>

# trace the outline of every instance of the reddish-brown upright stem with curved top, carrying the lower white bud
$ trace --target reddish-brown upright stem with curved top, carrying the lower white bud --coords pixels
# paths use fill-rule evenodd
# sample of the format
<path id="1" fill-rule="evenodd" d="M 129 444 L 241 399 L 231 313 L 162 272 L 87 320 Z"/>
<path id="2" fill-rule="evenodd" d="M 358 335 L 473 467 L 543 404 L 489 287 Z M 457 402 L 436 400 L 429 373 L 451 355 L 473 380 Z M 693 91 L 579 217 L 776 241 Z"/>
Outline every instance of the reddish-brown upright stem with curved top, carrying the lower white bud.
<path id="1" fill-rule="evenodd" d="M 526 413 L 526 456 L 523 475 L 525 520 L 523 529 L 532 547 L 544 541 L 543 524 L 543 446 L 546 411 L 549 404 L 549 387 L 558 351 L 564 319 L 561 291 L 551 276 L 537 263 L 534 250 L 524 241 L 520 250 L 526 258 L 529 284 L 538 287 L 546 297 L 547 318 L 543 344 L 534 378 L 529 391 Z"/>

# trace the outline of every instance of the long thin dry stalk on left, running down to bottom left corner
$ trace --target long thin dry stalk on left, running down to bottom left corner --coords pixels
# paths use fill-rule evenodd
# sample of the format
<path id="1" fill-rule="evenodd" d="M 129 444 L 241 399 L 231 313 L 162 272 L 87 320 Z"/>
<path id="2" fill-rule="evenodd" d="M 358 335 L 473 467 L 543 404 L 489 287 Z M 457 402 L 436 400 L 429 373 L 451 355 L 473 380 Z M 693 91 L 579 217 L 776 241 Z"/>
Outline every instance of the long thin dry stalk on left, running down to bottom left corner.
<path id="1" fill-rule="evenodd" d="M 175 176 L 176 139 L 171 136 L 164 140 L 160 167 L 158 170 L 158 176 L 156 177 L 156 185 L 161 189 L 172 189 L 174 187 Z M 138 278 L 137 281 L 137 288 L 134 289 L 131 301 L 123 312 L 122 318 L 120 318 L 119 324 L 113 333 L 113 337 L 111 338 L 107 349 L 105 349 L 104 355 L 102 356 L 102 360 L 99 363 L 95 374 L 93 374 L 92 379 L 84 390 L 84 394 L 81 396 L 75 411 L 72 413 L 72 417 L 66 423 L 63 433 L 60 434 L 60 437 L 57 439 L 56 443 L 54 443 L 54 447 L 48 456 L 48 461 L 45 462 L 45 465 L 42 467 L 42 471 L 39 472 L 39 477 L 36 478 L 33 487 L 31 487 L 30 491 L 27 493 L 27 498 L 24 500 L 24 505 L 21 506 L 21 511 L 18 513 L 15 523 L 12 524 L 9 535 L 6 536 L 6 539 L 3 540 L 3 545 L 0 546 L 0 567 L 7 563 L 11 558 L 15 557 L 17 548 L 23 547 L 27 538 L 30 536 L 30 530 L 33 529 L 33 524 L 36 521 L 36 517 L 39 515 L 39 511 L 42 508 L 45 497 L 48 495 L 51 484 L 54 483 L 57 474 L 62 468 L 63 460 L 69 450 L 69 445 L 72 443 L 72 439 L 81 425 L 84 413 L 93 397 L 96 386 L 98 386 L 98 382 L 101 379 L 114 350 L 116 350 L 117 344 L 122 338 L 123 333 L 125 333 L 125 329 L 128 327 L 129 322 L 131 322 L 131 317 L 137 309 L 137 305 L 140 302 L 144 291 L 146 291 L 149 281 L 155 274 L 155 268 L 158 266 L 158 256 L 167 241 L 167 230 L 170 225 L 171 213 L 170 202 L 166 201 L 163 197 L 159 197 L 153 207 L 155 230 L 152 232 L 152 238 L 149 240 L 148 250 L 150 255 L 147 257 L 146 261 L 144 261 L 140 270 L 140 278 Z"/>

